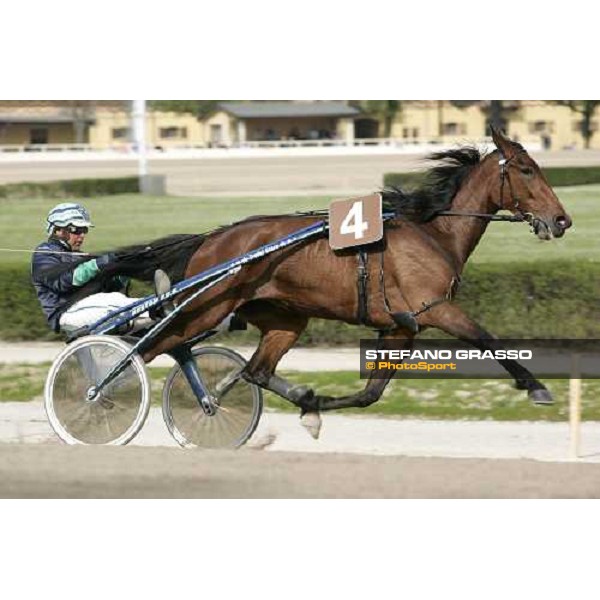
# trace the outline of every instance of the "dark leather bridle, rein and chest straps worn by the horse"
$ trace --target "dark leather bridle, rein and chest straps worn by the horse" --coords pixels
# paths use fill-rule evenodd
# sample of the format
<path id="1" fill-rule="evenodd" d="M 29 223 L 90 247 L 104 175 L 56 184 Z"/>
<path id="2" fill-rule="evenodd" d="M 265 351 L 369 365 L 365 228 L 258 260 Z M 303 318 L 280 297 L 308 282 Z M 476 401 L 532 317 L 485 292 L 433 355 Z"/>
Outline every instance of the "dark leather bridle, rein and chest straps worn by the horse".
<path id="1" fill-rule="evenodd" d="M 524 150 L 517 152 L 514 156 L 507 159 L 504 157 L 502 152 L 500 152 L 500 159 L 498 160 L 498 165 L 500 167 L 500 210 L 504 209 L 504 186 L 505 183 L 508 184 L 510 198 L 513 203 L 513 207 L 515 209 L 519 208 L 519 201 L 515 198 L 513 187 L 510 181 L 510 175 L 508 173 L 508 165 L 509 163 L 516 157 L 518 154 L 525 152 Z M 514 215 L 489 215 L 485 213 L 472 213 L 472 212 L 462 212 L 462 211 L 451 211 L 445 210 L 437 213 L 439 216 L 447 216 L 447 217 L 475 217 L 478 219 L 486 219 L 488 221 L 505 221 L 509 223 L 522 223 L 523 221 L 527 221 L 532 227 L 535 226 L 536 219 L 533 217 L 531 213 L 523 213 L 519 210 L 519 214 Z M 444 296 L 439 298 L 434 298 L 429 302 L 423 302 L 421 304 L 421 308 L 415 311 L 400 311 L 394 312 L 391 309 L 389 300 L 387 298 L 387 293 L 385 289 L 385 270 L 384 270 L 384 259 L 383 259 L 382 250 L 380 253 L 380 266 L 379 266 L 379 287 L 381 290 L 381 294 L 383 296 L 383 306 L 385 311 L 392 317 L 394 323 L 398 327 L 403 327 L 408 329 L 411 333 L 417 334 L 419 333 L 419 323 L 417 321 L 417 317 L 422 315 L 423 313 L 431 310 L 432 308 L 443 304 L 444 302 L 448 302 L 452 300 L 455 296 L 458 288 L 461 284 L 460 275 L 456 274 L 450 281 L 450 285 L 448 290 Z M 369 282 L 369 271 L 368 271 L 368 254 L 365 250 L 365 246 L 359 246 L 357 249 L 357 291 L 358 291 L 358 310 L 357 317 L 358 322 L 364 326 L 371 326 L 372 324 L 369 322 L 369 298 L 368 298 L 368 282 Z M 387 330 L 380 330 L 380 334 L 385 331 L 391 331 L 395 329 L 394 327 L 388 328 Z"/>

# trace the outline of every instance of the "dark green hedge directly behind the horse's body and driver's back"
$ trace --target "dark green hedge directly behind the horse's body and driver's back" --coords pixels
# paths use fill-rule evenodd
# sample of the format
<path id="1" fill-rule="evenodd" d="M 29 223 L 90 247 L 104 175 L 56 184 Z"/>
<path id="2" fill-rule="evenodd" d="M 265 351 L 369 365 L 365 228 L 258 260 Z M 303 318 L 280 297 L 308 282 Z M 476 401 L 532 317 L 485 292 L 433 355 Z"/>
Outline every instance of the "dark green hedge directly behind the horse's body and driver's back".
<path id="1" fill-rule="evenodd" d="M 145 291 L 137 287 L 133 294 L 143 295 Z M 600 339 L 599 298 L 600 263 L 553 261 L 510 267 L 469 266 L 457 302 L 468 315 L 501 337 Z M 232 336 L 236 344 L 253 344 L 258 339 L 254 328 Z M 372 338 L 374 333 L 313 320 L 300 343 L 349 345 L 361 337 Z M 0 269 L 0 339 L 58 339 L 48 330 L 27 268 Z"/>

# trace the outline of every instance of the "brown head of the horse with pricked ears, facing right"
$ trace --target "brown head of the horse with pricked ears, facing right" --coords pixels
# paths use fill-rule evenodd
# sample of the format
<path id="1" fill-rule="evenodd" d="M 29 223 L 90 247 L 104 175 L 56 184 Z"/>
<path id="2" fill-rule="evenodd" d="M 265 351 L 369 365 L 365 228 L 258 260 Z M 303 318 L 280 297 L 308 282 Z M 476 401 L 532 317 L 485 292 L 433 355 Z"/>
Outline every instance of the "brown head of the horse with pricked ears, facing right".
<path id="1" fill-rule="evenodd" d="M 494 186 L 497 190 L 494 203 L 522 215 L 541 240 L 562 237 L 572 221 L 540 167 L 520 144 L 494 127 L 491 130 L 500 155 L 500 178 L 497 187 Z"/>

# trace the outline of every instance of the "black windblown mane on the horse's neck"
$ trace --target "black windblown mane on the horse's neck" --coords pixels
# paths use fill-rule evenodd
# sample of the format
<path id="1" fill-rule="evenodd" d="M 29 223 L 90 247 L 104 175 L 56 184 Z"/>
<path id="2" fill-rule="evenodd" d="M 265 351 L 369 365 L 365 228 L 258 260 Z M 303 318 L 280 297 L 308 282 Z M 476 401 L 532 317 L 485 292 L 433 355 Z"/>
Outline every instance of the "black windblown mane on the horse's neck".
<path id="1" fill-rule="evenodd" d="M 439 164 L 426 172 L 420 187 L 403 191 L 391 186 L 382 191 L 384 210 L 419 223 L 430 221 L 450 208 L 465 179 L 483 158 L 485 154 L 473 146 L 430 154 L 427 159 Z"/>

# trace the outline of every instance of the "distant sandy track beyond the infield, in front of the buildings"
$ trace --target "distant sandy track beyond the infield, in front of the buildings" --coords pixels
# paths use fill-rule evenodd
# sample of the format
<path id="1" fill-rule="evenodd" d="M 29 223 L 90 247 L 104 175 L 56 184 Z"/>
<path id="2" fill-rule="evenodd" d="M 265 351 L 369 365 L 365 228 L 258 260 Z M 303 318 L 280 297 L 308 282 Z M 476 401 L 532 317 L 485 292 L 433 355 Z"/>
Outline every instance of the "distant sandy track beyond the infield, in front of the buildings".
<path id="1" fill-rule="evenodd" d="M 597 165 L 600 151 L 533 153 L 541 166 Z M 167 177 L 174 195 L 361 194 L 377 190 L 383 174 L 423 168 L 424 155 L 270 156 L 261 158 L 169 159 L 149 161 L 149 172 Z M 0 184 L 82 177 L 135 175 L 133 159 L 0 160 Z"/>

